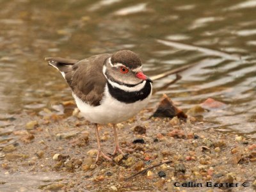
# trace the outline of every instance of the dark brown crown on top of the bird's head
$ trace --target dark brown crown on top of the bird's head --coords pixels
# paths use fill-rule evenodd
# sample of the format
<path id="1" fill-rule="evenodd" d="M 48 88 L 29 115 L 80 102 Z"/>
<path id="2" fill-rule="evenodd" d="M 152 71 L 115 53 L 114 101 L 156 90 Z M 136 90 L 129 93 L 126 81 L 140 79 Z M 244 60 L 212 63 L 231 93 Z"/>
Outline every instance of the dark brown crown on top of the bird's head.
<path id="1" fill-rule="evenodd" d="M 111 56 L 111 63 L 122 63 L 129 68 L 137 68 L 141 66 L 141 60 L 137 54 L 129 50 L 118 51 Z"/>

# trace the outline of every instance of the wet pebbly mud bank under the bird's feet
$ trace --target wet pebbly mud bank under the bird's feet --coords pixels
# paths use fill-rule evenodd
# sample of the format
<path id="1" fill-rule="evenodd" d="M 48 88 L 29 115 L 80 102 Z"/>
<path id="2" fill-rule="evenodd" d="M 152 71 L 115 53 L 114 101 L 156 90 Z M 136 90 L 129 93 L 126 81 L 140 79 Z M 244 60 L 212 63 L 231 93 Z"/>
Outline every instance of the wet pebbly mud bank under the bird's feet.
<path id="1" fill-rule="evenodd" d="M 207 122 L 192 116 L 186 122 L 149 118 L 155 109 L 148 108 L 117 125 L 122 147 L 134 151 L 112 157 L 113 163 L 100 159 L 95 164 L 93 125 L 72 103 L 63 106 L 2 117 L 0 191 L 253 191 L 256 187 L 255 140 L 205 129 Z M 100 137 L 104 152 L 111 154 L 110 125 L 100 129 Z"/>

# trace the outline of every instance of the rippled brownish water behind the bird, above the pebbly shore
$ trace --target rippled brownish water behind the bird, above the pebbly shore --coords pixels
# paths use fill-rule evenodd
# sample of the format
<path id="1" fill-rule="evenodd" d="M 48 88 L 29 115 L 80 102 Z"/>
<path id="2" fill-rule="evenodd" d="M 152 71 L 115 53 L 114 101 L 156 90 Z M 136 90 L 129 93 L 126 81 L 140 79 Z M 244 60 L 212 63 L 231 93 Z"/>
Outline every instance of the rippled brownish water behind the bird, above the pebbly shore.
<path id="1" fill-rule="evenodd" d="M 45 56 L 83 59 L 131 49 L 154 76 L 196 63 L 167 93 L 188 109 L 212 97 L 228 104 L 205 118 L 256 138 L 256 1 L 1 1 L 0 113 L 72 99 Z M 174 79 L 154 83 L 156 88 Z"/>

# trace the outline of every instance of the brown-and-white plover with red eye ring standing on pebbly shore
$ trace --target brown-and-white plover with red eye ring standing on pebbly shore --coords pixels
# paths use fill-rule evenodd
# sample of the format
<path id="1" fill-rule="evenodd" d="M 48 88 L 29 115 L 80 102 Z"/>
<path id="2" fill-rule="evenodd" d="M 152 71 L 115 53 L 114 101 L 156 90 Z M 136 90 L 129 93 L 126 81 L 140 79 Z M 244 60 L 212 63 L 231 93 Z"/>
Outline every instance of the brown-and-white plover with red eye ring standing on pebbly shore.
<path id="1" fill-rule="evenodd" d="M 115 150 L 112 155 L 124 155 L 118 143 L 116 124 L 139 113 L 152 95 L 152 80 L 143 73 L 140 57 L 132 51 L 121 50 L 84 60 L 59 57 L 45 60 L 61 72 L 72 90 L 77 108 L 86 120 L 95 125 L 98 145 L 95 162 L 100 156 L 113 161 L 102 151 L 99 125 L 113 125 Z"/>

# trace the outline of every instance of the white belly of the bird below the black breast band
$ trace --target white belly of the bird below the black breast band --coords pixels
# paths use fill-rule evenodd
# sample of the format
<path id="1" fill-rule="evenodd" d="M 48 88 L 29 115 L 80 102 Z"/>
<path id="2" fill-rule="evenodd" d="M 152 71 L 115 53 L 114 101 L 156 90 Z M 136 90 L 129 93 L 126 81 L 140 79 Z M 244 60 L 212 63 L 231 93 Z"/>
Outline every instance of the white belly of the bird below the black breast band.
<path id="1" fill-rule="evenodd" d="M 117 124 L 123 122 L 132 116 L 136 115 L 141 109 L 147 106 L 150 95 L 144 100 L 138 100 L 131 104 L 125 104 L 114 99 L 108 92 L 108 86 L 105 87 L 105 95 L 100 106 L 90 106 L 79 99 L 74 93 L 73 97 L 76 100 L 77 108 L 83 113 L 86 120 L 95 124 Z"/>

